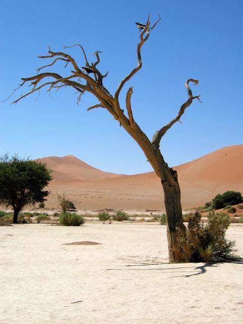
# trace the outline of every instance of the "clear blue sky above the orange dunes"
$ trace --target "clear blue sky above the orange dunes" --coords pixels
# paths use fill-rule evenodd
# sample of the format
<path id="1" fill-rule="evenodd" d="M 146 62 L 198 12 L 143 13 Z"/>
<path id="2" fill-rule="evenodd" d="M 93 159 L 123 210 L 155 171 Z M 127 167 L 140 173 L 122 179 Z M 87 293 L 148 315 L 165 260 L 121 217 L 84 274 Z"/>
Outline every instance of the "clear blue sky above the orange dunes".
<path id="1" fill-rule="evenodd" d="M 134 86 L 134 117 L 149 138 L 176 116 L 187 100 L 187 78 L 203 104 L 194 101 L 162 139 L 161 152 L 170 166 L 179 165 L 228 145 L 243 142 L 243 1 L 81 1 L 9 0 L 0 2 L 0 100 L 47 64 L 38 59 L 48 45 L 82 44 L 89 59 L 100 50 L 105 86 L 114 92 L 119 80 L 137 64 L 139 31 L 134 22 L 161 21 L 142 49 L 143 67 L 125 87 Z M 68 49 L 85 65 L 78 48 Z M 50 70 L 68 75 L 62 65 Z M 28 91 L 20 89 L 13 100 Z M 85 95 L 76 105 L 74 90 L 46 91 L 11 105 L 0 104 L 0 154 L 21 157 L 72 154 L 109 172 L 134 174 L 151 171 L 146 158 L 117 121 Z M 122 102 L 124 105 L 124 102 Z"/>

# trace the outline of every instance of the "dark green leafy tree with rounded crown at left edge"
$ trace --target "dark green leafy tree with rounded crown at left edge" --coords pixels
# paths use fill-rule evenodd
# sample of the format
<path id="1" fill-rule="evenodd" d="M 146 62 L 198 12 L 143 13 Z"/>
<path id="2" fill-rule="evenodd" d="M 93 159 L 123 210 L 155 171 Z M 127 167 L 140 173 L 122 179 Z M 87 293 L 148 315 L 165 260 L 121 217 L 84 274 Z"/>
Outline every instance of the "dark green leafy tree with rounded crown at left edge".
<path id="1" fill-rule="evenodd" d="M 43 203 L 49 194 L 44 188 L 52 180 L 46 165 L 20 159 L 18 156 L 0 159 L 0 203 L 12 206 L 13 223 L 18 223 L 18 215 L 26 205 Z"/>

